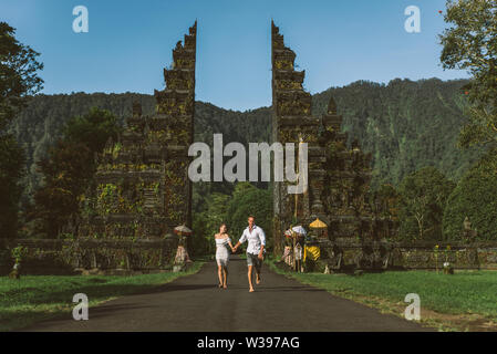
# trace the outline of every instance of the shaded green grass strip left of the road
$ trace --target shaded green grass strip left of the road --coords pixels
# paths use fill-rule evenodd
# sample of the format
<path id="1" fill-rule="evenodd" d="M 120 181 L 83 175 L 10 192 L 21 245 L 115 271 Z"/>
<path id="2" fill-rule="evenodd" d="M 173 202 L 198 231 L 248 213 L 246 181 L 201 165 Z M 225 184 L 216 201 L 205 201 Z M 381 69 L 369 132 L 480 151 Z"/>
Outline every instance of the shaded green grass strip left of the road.
<path id="1" fill-rule="evenodd" d="M 22 329 L 34 322 L 68 315 L 76 305 L 73 295 L 84 293 L 90 306 L 126 294 L 145 292 L 178 277 L 197 272 L 194 262 L 186 272 L 142 275 L 24 275 L 0 277 L 0 331 Z"/>

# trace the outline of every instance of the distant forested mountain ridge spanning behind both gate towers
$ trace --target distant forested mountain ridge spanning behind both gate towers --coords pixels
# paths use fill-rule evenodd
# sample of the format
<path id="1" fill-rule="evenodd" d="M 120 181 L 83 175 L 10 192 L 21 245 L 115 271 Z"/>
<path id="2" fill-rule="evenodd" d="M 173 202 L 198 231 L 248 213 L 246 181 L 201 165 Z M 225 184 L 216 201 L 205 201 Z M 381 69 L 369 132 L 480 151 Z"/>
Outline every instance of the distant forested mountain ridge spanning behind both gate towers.
<path id="1" fill-rule="evenodd" d="M 476 152 L 463 153 L 455 145 L 465 119 L 460 92 L 465 83 L 436 79 L 394 80 L 387 85 L 355 82 L 315 94 L 313 114 L 322 114 L 330 95 L 334 96 L 350 139 L 359 138 L 362 148 L 373 153 L 375 183 L 397 184 L 405 174 L 426 165 L 436 166 L 457 179 L 476 158 Z M 66 119 L 97 106 L 110 110 L 124 123 L 134 100 L 142 102 L 144 114 L 153 113 L 155 98 L 144 94 L 74 93 L 33 97 L 11 128 L 27 152 L 24 192 L 29 195 L 39 185 L 34 163 L 56 140 Z M 235 112 L 197 102 L 195 139 L 210 142 L 213 133 L 222 133 L 225 143 L 269 142 L 270 121 L 270 107 Z"/>

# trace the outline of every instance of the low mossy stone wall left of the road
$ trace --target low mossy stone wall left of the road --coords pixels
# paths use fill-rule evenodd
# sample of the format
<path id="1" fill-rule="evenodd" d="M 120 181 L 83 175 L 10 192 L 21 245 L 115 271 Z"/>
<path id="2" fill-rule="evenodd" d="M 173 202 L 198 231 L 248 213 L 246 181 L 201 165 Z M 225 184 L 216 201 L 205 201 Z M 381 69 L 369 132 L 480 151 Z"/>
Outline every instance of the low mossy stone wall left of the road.
<path id="1" fill-rule="evenodd" d="M 7 244 L 1 274 L 12 269 L 13 260 L 8 256 L 18 246 L 25 249 L 21 261 L 23 274 L 149 272 L 172 269 L 178 239 L 19 239 Z"/>

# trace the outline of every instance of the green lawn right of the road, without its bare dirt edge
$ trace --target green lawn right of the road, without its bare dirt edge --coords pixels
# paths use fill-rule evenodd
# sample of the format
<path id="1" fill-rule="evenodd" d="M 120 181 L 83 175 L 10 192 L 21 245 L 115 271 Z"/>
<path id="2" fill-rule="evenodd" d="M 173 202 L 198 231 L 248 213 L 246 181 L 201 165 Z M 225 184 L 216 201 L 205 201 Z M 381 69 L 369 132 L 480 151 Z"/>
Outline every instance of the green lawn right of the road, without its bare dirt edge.
<path id="1" fill-rule="evenodd" d="M 497 321 L 497 272 L 457 271 L 443 274 L 434 271 L 387 271 L 362 275 L 290 273 L 271 266 L 298 281 L 352 299 L 354 295 L 377 296 L 396 304 L 407 293 L 417 293 L 421 308 L 446 314 L 479 314 Z"/>

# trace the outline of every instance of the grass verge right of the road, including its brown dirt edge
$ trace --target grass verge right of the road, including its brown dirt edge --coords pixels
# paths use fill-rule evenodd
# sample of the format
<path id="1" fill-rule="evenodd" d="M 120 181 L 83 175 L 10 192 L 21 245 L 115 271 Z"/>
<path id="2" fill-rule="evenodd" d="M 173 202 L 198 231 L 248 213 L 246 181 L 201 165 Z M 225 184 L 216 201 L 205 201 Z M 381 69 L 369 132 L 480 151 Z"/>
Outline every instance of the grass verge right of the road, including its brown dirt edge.
<path id="1" fill-rule="evenodd" d="M 421 324 L 439 331 L 497 331 L 497 272 L 387 271 L 362 275 L 293 273 L 269 267 L 301 283 L 404 317 L 405 295 L 421 299 Z"/>

